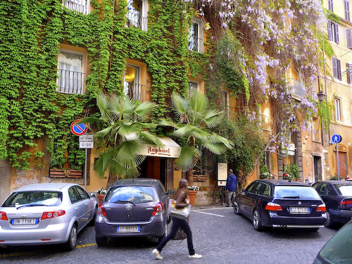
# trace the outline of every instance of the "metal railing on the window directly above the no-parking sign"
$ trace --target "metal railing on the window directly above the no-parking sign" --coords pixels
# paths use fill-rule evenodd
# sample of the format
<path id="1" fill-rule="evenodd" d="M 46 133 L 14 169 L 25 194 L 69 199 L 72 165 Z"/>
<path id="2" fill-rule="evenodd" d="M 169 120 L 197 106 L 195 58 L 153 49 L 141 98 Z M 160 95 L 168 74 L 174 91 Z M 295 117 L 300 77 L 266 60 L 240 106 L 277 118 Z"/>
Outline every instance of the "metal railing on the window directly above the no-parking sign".
<path id="1" fill-rule="evenodd" d="M 85 73 L 58 69 L 58 92 L 65 94 L 83 94 Z"/>

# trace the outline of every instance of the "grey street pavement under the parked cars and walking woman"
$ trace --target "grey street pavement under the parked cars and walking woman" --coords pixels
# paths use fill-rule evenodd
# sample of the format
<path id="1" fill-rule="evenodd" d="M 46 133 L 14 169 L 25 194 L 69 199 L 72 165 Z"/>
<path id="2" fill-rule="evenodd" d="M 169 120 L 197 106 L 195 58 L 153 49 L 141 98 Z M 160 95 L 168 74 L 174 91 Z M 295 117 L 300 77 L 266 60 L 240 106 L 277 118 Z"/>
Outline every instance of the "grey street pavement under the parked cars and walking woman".
<path id="1" fill-rule="evenodd" d="M 190 215 L 196 253 L 189 260 L 187 241 L 170 241 L 163 260 L 154 259 L 156 246 L 146 239 L 110 239 L 105 248 L 95 244 L 94 227 L 78 236 L 77 249 L 63 252 L 58 246 L 0 248 L 0 261 L 7 263 L 236 263 L 311 264 L 320 248 L 337 230 L 266 230 L 256 232 L 249 220 L 223 206 L 193 208 Z"/>

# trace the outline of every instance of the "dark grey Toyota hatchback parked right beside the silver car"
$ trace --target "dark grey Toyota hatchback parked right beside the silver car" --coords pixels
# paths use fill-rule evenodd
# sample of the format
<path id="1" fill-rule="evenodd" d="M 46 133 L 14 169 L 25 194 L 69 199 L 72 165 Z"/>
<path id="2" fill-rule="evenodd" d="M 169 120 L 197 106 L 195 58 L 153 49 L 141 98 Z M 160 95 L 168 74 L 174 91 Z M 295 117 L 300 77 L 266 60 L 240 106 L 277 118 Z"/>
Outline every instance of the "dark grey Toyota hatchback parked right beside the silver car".
<path id="1" fill-rule="evenodd" d="M 124 179 L 114 182 L 98 208 L 96 244 L 108 237 L 157 237 L 167 234 L 168 194 L 156 179 Z"/>

